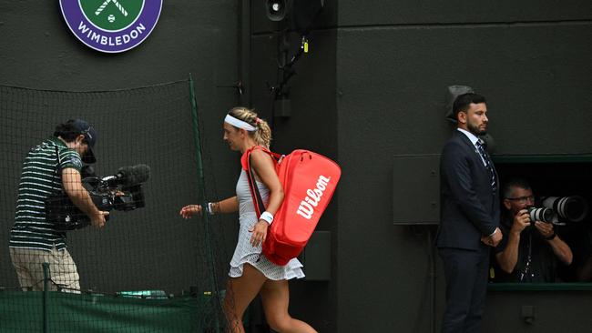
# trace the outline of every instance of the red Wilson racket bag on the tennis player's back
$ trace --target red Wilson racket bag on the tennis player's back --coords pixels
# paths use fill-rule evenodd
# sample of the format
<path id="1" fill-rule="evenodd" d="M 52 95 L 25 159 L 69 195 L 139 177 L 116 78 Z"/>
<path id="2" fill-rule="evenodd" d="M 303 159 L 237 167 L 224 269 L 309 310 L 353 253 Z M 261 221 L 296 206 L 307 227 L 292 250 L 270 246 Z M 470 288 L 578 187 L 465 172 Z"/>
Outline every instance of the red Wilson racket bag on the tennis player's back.
<path id="1" fill-rule="evenodd" d="M 250 167 L 250 153 L 254 149 L 261 149 L 273 158 L 284 191 L 283 202 L 268 228 L 262 250 L 271 262 L 283 266 L 298 257 L 306 246 L 331 201 L 342 170 L 331 159 L 309 150 L 297 149 L 281 156 L 262 146 L 250 148 L 241 157 L 241 164 L 249 176 L 250 194 L 258 218 L 265 207 Z"/>

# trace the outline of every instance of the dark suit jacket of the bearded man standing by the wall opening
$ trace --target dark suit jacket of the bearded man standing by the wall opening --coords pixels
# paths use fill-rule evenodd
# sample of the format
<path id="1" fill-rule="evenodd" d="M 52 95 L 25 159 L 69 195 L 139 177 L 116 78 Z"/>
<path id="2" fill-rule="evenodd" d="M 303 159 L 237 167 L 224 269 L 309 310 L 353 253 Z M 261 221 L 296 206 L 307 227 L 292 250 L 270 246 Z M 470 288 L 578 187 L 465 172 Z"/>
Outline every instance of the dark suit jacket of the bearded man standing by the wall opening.
<path id="1" fill-rule="evenodd" d="M 485 247 L 481 237 L 499 226 L 499 194 L 492 191 L 489 170 L 471 140 L 458 130 L 454 132 L 440 158 L 441 210 L 436 245 L 478 250 Z M 499 188 L 496 173 L 495 178 Z"/>

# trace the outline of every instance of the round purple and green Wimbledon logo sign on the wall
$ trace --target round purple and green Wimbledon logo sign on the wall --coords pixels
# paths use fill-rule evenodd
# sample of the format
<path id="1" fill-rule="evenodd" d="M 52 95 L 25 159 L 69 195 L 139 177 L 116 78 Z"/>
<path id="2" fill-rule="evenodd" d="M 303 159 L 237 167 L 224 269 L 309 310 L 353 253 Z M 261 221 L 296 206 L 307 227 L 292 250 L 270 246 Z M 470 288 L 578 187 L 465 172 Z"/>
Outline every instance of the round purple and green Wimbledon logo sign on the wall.
<path id="1" fill-rule="evenodd" d="M 142 43 L 157 25 L 162 0 L 60 0 L 72 33 L 97 51 L 117 53 Z"/>

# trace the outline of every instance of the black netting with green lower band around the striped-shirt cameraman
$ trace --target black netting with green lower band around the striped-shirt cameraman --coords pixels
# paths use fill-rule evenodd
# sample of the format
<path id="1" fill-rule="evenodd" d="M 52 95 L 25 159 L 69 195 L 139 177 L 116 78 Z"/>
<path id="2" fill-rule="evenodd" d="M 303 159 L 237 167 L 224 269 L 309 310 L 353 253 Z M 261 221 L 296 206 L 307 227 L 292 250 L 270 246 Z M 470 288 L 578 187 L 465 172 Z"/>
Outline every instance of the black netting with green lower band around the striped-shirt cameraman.
<path id="1" fill-rule="evenodd" d="M 179 217 L 180 207 L 217 197 L 213 187 L 207 187 L 211 177 L 203 176 L 208 166 L 201 163 L 199 119 L 191 95 L 188 81 L 105 92 L 0 86 L 0 240 L 5 248 L 0 251 L 0 330 L 223 330 L 219 299 L 228 262 L 221 253 L 224 241 L 219 221 Z M 29 167 L 35 163 L 25 163 L 26 156 L 46 142 L 58 124 L 76 118 L 87 120 L 97 131 L 93 149 L 97 163 L 92 166 L 98 181 L 123 174 L 124 179 L 115 182 L 125 196 L 131 196 L 131 204 L 113 205 L 105 227 L 66 232 L 67 250 L 79 275 L 78 288 L 67 282 L 73 267 L 66 267 L 65 275 L 59 276 L 61 267 L 52 260 L 64 251 L 56 248 L 53 253 L 44 251 L 50 254 L 42 260 L 49 261 L 49 278 L 33 277 L 38 288 L 28 287 L 38 291 L 23 291 L 13 262 L 26 261 L 30 269 L 39 252 L 25 247 L 36 244 L 39 233 L 46 235 L 43 228 L 31 232 L 21 227 L 17 234 L 30 237 L 10 242 L 15 211 L 21 210 L 23 221 L 35 223 L 33 217 L 39 217 L 30 202 L 16 205 L 19 186 L 30 183 L 21 181 L 23 166 L 36 169 Z M 44 154 L 28 156 L 51 158 Z M 36 172 L 29 175 L 31 179 L 42 177 Z M 145 181 L 131 188 L 130 178 Z M 86 183 L 87 188 L 93 185 Z M 145 207 L 134 205 L 138 193 L 131 192 L 138 191 L 138 185 Z M 9 250 L 9 244 L 18 246 Z M 18 259 L 11 260 L 11 251 Z M 43 277 L 41 265 L 33 266 L 38 266 Z M 52 291 L 45 293 L 44 289 Z"/>

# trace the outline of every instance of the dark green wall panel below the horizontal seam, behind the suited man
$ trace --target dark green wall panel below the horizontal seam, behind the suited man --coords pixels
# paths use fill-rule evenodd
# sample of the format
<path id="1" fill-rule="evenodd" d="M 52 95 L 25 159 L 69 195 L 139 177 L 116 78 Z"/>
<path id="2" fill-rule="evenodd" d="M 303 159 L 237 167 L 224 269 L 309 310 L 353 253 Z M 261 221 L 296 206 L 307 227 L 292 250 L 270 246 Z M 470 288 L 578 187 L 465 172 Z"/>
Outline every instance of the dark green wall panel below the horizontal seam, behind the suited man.
<path id="1" fill-rule="evenodd" d="M 349 15 L 366 15 L 357 10 Z M 336 236 L 340 332 L 390 331 L 395 326 L 428 331 L 431 244 L 420 241 L 422 229 L 391 225 L 397 208 L 392 156 L 440 153 L 454 130 L 444 120 L 447 86 L 473 86 L 487 97 L 495 156 L 589 155 L 592 50 L 581 41 L 592 38 L 591 26 L 375 25 L 338 30 L 337 130 L 344 175 Z M 407 176 L 413 183 L 416 175 Z M 417 197 L 401 205 L 427 201 Z M 444 276 L 440 271 L 438 276 L 437 321 L 444 297 Z M 373 282 L 361 286 L 360 281 Z M 361 322 L 360 314 L 380 320 Z"/>

